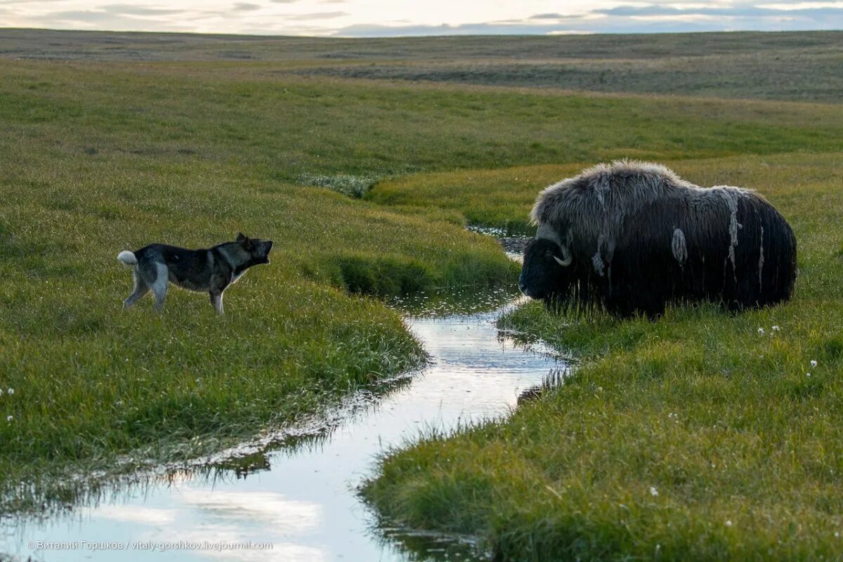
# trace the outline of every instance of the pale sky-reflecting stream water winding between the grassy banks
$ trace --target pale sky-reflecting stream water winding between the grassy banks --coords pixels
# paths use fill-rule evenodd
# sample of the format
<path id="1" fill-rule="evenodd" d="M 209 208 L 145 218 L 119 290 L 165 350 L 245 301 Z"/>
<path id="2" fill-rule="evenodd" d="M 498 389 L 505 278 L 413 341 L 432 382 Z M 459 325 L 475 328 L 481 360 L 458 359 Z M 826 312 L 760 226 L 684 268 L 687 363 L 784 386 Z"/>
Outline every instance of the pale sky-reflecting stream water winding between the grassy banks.
<path id="1" fill-rule="evenodd" d="M 486 312 L 444 318 L 430 318 L 447 309 L 437 299 L 427 308 L 424 299 L 404 303 L 430 365 L 387 393 L 349 399 L 319 436 L 249 454 L 244 447 L 235 458 L 117 490 L 72 515 L 7 520 L 0 553 L 44 562 L 482 559 L 470 541 L 379 527 L 356 488 L 385 449 L 434 428 L 506 415 L 520 393 L 564 367 L 499 334 L 502 308 L 489 311 L 496 300 L 481 298 Z M 248 543 L 254 549 L 242 549 Z"/>

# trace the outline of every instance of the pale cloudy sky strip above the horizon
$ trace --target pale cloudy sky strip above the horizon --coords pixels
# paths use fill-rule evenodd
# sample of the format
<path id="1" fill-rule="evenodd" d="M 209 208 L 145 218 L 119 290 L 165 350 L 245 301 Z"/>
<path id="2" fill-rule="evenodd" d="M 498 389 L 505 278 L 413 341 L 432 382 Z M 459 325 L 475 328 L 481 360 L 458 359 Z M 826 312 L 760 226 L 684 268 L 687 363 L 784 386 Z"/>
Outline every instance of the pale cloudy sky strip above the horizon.
<path id="1" fill-rule="evenodd" d="M 843 0 L 0 0 L 0 27 L 340 36 L 843 29 Z"/>

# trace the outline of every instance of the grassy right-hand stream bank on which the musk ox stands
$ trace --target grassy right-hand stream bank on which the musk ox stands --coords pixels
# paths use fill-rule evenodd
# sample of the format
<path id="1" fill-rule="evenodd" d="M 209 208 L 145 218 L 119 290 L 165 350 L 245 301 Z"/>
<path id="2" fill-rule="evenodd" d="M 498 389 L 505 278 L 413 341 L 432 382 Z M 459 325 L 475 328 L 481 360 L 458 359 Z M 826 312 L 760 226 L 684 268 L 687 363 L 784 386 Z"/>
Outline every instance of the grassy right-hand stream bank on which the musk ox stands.
<path id="1" fill-rule="evenodd" d="M 672 163 L 781 209 L 799 243 L 793 301 L 658 322 L 519 308 L 502 328 L 580 358 L 576 372 L 506 421 L 390 455 L 368 500 L 412 527 L 479 535 L 498 559 L 839 559 L 841 164 Z"/>

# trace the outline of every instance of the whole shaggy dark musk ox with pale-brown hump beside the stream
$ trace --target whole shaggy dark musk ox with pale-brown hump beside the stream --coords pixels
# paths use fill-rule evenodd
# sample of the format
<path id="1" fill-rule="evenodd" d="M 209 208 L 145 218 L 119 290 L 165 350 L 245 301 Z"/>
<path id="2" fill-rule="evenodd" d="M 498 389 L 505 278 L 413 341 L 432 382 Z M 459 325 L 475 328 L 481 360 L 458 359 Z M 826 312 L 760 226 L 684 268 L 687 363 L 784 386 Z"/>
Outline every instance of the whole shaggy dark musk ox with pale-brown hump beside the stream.
<path id="1" fill-rule="evenodd" d="M 787 301 L 796 238 L 752 190 L 701 188 L 652 163 L 599 164 L 543 190 L 519 285 L 561 308 L 655 317 L 668 302 Z"/>

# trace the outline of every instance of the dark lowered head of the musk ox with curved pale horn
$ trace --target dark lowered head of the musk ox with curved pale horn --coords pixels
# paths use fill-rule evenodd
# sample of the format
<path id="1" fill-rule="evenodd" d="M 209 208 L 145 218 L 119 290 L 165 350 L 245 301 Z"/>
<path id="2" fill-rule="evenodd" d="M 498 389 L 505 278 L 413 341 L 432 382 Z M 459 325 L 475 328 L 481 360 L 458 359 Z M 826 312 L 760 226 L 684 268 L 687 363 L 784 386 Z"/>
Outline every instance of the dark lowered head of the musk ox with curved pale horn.
<path id="1" fill-rule="evenodd" d="M 524 248 L 524 265 L 518 287 L 531 298 L 553 301 L 568 292 L 574 280 L 573 255 L 550 225 L 540 225 L 534 240 Z"/>

